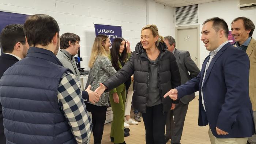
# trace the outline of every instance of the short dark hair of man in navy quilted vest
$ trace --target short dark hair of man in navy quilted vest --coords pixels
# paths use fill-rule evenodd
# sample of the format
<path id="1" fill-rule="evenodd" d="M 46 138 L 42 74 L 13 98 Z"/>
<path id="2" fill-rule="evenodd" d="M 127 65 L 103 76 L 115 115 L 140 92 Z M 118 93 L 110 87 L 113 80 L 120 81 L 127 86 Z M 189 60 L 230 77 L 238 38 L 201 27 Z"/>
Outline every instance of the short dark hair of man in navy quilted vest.
<path id="1" fill-rule="evenodd" d="M 31 15 L 24 23 L 24 33 L 30 46 L 46 46 L 52 42 L 56 33 L 59 37 L 59 32 L 57 21 L 49 15 Z"/>

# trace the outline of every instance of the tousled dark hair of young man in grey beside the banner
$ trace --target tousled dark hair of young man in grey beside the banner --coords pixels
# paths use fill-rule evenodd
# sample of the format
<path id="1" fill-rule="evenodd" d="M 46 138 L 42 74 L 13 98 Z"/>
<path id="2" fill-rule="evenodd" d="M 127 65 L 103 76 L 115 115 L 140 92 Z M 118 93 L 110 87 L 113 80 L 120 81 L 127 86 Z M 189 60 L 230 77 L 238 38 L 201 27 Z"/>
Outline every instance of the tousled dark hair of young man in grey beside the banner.
<path id="1" fill-rule="evenodd" d="M 65 33 L 60 36 L 60 49 L 67 49 L 69 47 L 69 41 L 72 45 L 75 45 L 76 41 L 80 42 L 80 37 L 73 33 Z"/>

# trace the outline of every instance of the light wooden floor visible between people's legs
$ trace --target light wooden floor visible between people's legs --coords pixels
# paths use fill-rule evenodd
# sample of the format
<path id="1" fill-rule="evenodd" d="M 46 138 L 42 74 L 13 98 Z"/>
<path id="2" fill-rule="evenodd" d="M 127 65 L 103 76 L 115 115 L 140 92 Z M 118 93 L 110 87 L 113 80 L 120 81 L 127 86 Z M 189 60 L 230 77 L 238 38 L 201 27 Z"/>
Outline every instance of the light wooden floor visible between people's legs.
<path id="1" fill-rule="evenodd" d="M 131 118 L 133 111 L 131 110 Z M 198 126 L 198 96 L 189 103 L 187 116 L 185 119 L 184 129 L 181 137 L 181 144 L 210 144 L 208 136 L 208 126 Z M 146 144 L 145 128 L 142 122 L 138 125 L 130 125 L 130 136 L 124 137 L 127 144 Z M 113 144 L 110 142 L 111 124 L 105 124 L 101 144 Z M 170 140 L 167 142 L 170 143 Z M 90 144 L 93 144 L 93 134 L 91 135 Z"/>

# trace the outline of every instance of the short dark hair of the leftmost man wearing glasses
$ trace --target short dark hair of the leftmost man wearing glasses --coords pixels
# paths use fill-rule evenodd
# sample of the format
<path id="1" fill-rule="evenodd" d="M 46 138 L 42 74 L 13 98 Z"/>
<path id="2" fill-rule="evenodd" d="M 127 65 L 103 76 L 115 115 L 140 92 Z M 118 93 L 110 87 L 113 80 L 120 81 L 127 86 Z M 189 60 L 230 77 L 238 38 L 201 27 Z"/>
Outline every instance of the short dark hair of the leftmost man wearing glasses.
<path id="1" fill-rule="evenodd" d="M 26 43 L 22 24 L 9 24 L 0 34 L 1 48 L 4 53 L 12 53 L 17 42 Z"/>

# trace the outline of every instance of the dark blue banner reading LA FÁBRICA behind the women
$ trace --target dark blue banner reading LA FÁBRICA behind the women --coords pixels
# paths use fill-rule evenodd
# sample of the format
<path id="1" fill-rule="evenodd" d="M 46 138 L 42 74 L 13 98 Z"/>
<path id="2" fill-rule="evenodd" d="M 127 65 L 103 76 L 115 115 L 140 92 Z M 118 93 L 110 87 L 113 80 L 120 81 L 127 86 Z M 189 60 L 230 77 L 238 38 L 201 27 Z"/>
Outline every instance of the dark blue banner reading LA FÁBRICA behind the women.
<path id="1" fill-rule="evenodd" d="M 106 34 L 110 39 L 110 43 L 114 41 L 117 37 L 122 37 L 121 26 L 110 26 L 106 24 L 94 24 L 95 34 Z M 111 48 L 111 47 L 110 47 Z"/>

